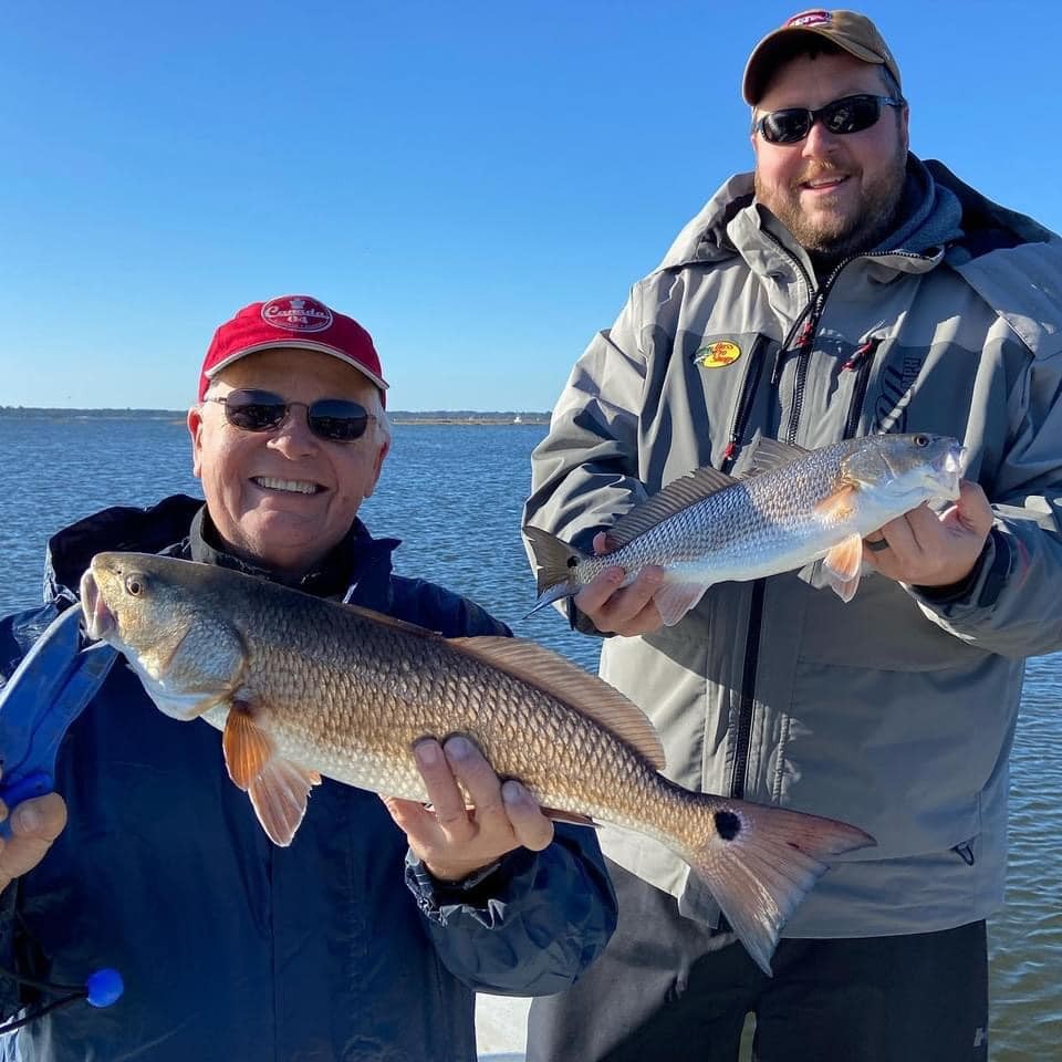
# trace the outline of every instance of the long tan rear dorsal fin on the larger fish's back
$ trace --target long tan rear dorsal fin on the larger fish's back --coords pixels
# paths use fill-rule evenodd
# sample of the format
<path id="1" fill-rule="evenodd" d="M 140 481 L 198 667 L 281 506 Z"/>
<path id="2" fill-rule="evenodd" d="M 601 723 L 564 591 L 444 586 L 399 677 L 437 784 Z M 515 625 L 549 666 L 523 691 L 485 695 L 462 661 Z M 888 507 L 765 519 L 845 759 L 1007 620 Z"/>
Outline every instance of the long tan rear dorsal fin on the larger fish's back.
<path id="1" fill-rule="evenodd" d="M 448 638 L 447 644 L 562 700 L 626 741 L 656 770 L 664 769 L 664 746 L 653 723 L 604 679 L 523 638 Z"/>

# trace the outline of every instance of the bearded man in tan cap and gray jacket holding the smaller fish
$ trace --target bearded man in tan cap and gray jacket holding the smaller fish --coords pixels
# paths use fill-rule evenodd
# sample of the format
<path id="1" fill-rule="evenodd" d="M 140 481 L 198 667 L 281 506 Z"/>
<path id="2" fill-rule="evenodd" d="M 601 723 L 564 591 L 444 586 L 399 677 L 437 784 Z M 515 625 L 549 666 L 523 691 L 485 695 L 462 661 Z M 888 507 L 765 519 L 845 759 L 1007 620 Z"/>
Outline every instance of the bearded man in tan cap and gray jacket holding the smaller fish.
<path id="1" fill-rule="evenodd" d="M 1062 241 L 908 152 L 899 66 L 851 11 L 805 11 L 745 72 L 731 177 L 579 361 L 524 521 L 585 550 L 756 442 L 954 436 L 961 493 L 864 540 L 844 603 L 813 571 L 715 585 L 673 625 L 659 570 L 602 573 L 571 622 L 690 788 L 855 823 L 772 974 L 663 847 L 605 830 L 620 927 L 531 1008 L 531 1062 L 983 1060 L 1023 659 L 1062 649 Z M 793 450 L 793 452 L 799 452 Z M 670 617 L 669 617 L 670 618 Z"/>

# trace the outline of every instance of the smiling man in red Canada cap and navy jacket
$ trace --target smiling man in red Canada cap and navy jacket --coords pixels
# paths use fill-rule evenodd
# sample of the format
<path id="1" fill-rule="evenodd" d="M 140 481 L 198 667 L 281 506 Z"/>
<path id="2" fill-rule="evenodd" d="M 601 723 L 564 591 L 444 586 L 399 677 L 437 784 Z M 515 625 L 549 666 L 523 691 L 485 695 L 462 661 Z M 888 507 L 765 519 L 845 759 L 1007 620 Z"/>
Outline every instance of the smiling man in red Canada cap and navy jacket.
<path id="1" fill-rule="evenodd" d="M 104 550 L 222 565 L 447 636 L 507 634 L 393 574 L 398 543 L 357 517 L 389 445 L 386 387 L 351 317 L 308 295 L 246 306 L 217 330 L 188 414 L 206 502 L 108 509 L 55 535 L 51 601 L 0 623 L 0 676 Z M 608 939 L 614 898 L 592 831 L 554 834 L 470 742 L 416 754 L 438 816 L 326 779 L 275 847 L 217 732 L 155 710 L 113 667 L 65 736 L 55 792 L 18 803 L 0 840 L 0 1027 L 20 1023 L 0 1053 L 472 1062 L 475 990 L 566 987 Z M 125 980 L 115 1006 L 45 1012 L 42 982 L 104 961 Z"/>

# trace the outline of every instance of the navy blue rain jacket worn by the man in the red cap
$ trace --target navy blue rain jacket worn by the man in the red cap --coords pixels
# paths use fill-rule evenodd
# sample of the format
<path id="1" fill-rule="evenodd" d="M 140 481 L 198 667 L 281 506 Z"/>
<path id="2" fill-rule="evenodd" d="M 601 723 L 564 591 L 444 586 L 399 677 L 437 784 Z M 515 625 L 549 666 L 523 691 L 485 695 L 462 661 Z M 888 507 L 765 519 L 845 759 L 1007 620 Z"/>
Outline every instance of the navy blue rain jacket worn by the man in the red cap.
<path id="1" fill-rule="evenodd" d="M 0 623 L 0 676 L 73 598 L 93 553 L 188 555 L 200 506 L 108 509 L 56 535 L 54 601 Z M 449 636 L 506 632 L 471 602 L 392 574 L 397 544 L 352 529 L 354 603 Z M 108 1009 L 79 1002 L 0 1038 L 4 1060 L 472 1060 L 475 990 L 560 991 L 615 926 L 592 831 L 559 825 L 544 852 L 444 889 L 405 865 L 405 836 L 375 794 L 325 780 L 291 846 L 273 846 L 217 731 L 164 716 L 121 659 L 67 732 L 55 788 L 69 823 L 3 895 L 0 966 L 64 985 L 111 966 L 126 989 Z M 0 977 L 0 1021 L 37 998 Z"/>

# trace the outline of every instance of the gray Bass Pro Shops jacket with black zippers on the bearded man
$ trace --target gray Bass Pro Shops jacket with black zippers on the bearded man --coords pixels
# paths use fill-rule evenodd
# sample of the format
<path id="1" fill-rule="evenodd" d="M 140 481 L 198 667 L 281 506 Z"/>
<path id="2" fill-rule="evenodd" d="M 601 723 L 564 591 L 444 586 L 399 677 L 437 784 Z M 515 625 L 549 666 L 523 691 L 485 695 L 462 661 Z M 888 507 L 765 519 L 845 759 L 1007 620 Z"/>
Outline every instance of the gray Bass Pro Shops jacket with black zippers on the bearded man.
<path id="1" fill-rule="evenodd" d="M 525 522 L 589 546 L 693 468 L 740 475 L 760 436 L 967 447 L 997 520 L 962 586 L 872 575 L 845 605 L 798 574 L 720 584 L 675 627 L 603 644 L 602 676 L 653 718 L 670 777 L 877 839 L 789 936 L 940 929 L 1001 902 L 1022 662 L 1062 648 L 1062 241 L 914 157 L 904 217 L 816 278 L 751 175 L 731 178 L 591 342 L 533 455 Z M 717 342 L 739 356 L 707 367 Z M 660 846 L 602 845 L 716 917 Z"/>

